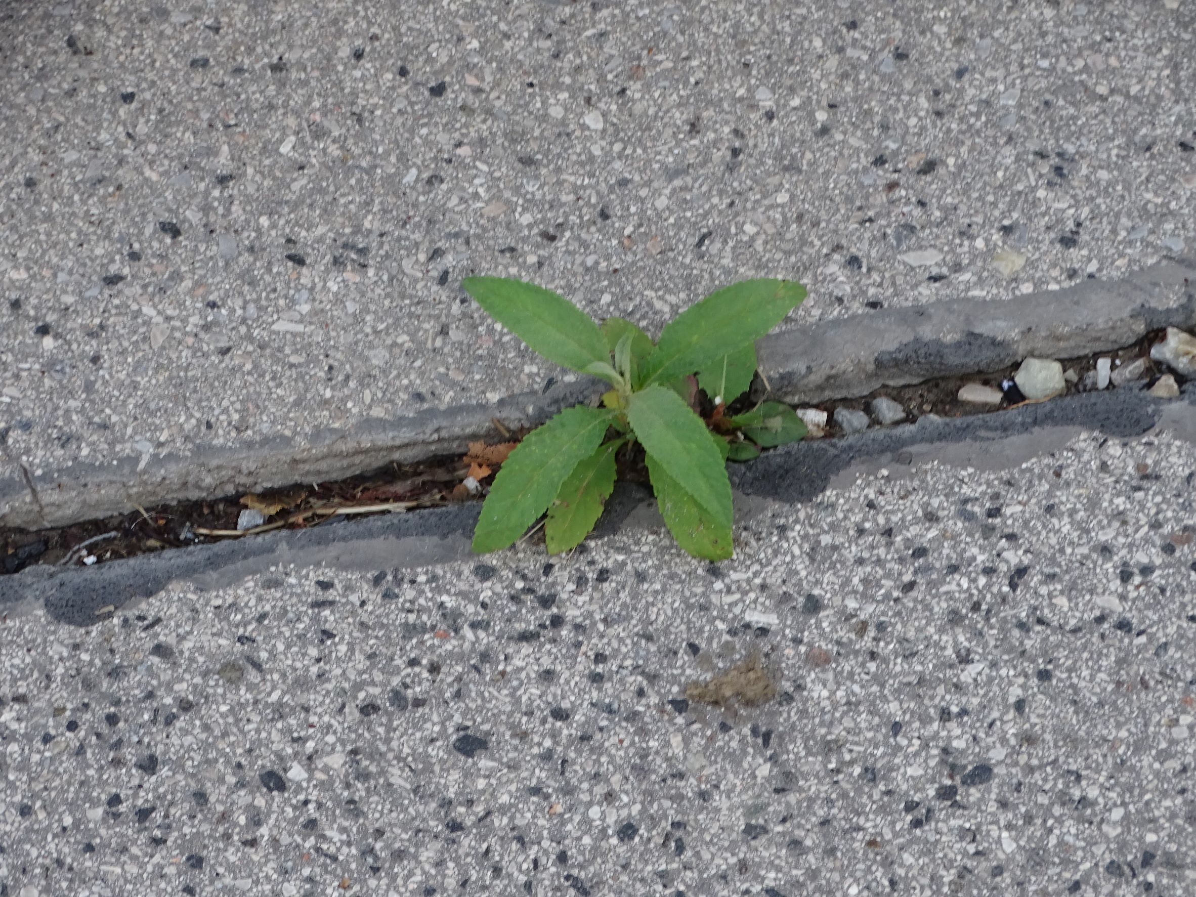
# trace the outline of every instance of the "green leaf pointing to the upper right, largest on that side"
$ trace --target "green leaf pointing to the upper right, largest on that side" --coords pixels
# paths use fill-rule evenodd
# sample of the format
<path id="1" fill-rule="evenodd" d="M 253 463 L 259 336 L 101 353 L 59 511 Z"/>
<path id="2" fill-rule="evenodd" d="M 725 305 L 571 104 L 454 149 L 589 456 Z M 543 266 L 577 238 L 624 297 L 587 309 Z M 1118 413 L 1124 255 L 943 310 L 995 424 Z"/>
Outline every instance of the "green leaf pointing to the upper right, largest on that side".
<path id="1" fill-rule="evenodd" d="M 666 383 L 706 368 L 756 342 L 805 298 L 806 288 L 789 280 L 745 280 L 710 293 L 665 325 L 642 382 Z"/>

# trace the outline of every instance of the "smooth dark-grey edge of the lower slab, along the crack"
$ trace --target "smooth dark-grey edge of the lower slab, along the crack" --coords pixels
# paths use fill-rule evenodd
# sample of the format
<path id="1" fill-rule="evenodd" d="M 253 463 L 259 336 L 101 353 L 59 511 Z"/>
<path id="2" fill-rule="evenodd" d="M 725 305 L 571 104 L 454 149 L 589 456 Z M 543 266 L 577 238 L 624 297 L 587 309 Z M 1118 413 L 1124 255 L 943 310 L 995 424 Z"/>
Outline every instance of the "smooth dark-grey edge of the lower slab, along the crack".
<path id="1" fill-rule="evenodd" d="M 880 466 L 899 476 L 923 463 L 1005 469 L 1055 451 L 1076 434 L 1133 438 L 1168 429 L 1196 441 L 1196 384 L 1171 402 L 1141 390 L 1068 396 L 993 415 L 926 419 L 834 440 L 798 443 L 732 468 L 737 526 L 767 513 L 770 502 L 804 502 Z M 493 557 L 474 555 L 470 537 L 480 505 L 346 520 L 312 530 L 283 530 L 245 541 L 141 555 L 93 568 L 31 567 L 0 578 L 0 614 L 44 611 L 72 626 L 109 618 L 175 581 L 218 588 L 270 567 L 327 566 L 376 570 L 386 581 L 403 570 L 472 559 L 484 575 Z M 642 486 L 621 483 L 592 538 L 659 529 L 655 502 Z M 581 549 L 587 550 L 587 549 Z M 678 549 L 679 551 L 679 549 Z M 499 555 L 501 557 L 501 555 Z M 694 561 L 698 563 L 698 561 Z M 269 587 L 267 576 L 260 584 Z M 396 596 L 401 588 L 395 590 Z M 385 598 L 385 591 L 380 591 Z"/>

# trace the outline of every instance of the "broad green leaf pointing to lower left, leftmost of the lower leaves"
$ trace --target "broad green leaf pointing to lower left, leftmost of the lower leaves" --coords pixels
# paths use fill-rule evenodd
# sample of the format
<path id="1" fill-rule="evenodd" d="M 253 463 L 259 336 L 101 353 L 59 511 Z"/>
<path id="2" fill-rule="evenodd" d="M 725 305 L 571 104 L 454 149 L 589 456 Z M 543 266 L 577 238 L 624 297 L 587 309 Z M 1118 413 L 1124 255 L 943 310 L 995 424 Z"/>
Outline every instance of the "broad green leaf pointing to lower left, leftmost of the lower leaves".
<path id="1" fill-rule="evenodd" d="M 474 530 L 474 550 L 496 551 L 527 531 L 548 509 L 561 484 L 602 445 L 614 414 L 566 408 L 515 446 L 498 476 Z"/>

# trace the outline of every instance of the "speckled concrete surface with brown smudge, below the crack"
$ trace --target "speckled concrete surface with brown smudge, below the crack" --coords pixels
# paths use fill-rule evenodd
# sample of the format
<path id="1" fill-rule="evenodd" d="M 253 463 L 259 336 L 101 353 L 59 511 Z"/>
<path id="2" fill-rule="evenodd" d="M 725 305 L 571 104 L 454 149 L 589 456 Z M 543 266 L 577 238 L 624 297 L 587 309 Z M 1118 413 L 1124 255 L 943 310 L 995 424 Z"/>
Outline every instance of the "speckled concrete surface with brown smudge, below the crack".
<path id="1" fill-rule="evenodd" d="M 629 530 L 0 617 L 8 895 L 1196 887 L 1196 448 L 1082 432 Z M 775 695 L 687 687 L 757 657 Z"/>

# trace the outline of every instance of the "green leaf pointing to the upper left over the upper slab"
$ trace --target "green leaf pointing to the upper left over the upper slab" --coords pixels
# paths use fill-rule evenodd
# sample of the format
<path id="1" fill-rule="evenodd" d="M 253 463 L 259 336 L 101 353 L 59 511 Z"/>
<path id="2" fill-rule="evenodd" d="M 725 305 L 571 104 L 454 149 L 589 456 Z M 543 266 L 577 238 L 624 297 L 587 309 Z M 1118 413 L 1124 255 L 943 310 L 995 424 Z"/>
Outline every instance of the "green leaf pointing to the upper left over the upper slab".
<path id="1" fill-rule="evenodd" d="M 551 289 L 509 277 L 466 277 L 460 285 L 487 315 L 549 361 L 581 372 L 594 361 L 610 364 L 598 325 Z"/>

